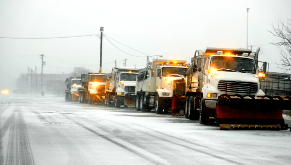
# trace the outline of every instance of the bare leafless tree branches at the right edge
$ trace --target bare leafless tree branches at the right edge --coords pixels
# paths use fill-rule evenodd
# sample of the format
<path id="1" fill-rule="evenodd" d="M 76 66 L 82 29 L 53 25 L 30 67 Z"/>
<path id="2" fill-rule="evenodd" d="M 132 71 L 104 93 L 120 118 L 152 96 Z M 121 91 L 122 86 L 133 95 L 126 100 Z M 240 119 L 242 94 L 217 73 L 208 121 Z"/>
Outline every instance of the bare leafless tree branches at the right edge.
<path id="1" fill-rule="evenodd" d="M 291 20 L 287 19 L 287 23 L 284 23 L 280 20 L 278 22 L 278 26 L 274 27 L 274 24 L 272 24 L 273 31 L 270 32 L 273 36 L 279 37 L 281 39 L 280 42 L 272 43 L 275 46 L 278 46 L 280 49 L 280 64 L 277 64 L 279 66 L 282 66 L 285 71 L 291 70 Z M 283 51 L 282 47 L 285 49 Z"/>

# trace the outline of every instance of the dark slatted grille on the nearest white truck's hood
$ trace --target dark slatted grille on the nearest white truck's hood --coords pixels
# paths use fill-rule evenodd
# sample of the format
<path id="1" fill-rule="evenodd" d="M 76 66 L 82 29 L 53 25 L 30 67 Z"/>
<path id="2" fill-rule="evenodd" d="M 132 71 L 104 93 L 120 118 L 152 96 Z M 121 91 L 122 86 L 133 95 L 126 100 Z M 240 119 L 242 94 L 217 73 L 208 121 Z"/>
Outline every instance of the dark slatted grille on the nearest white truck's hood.
<path id="1" fill-rule="evenodd" d="M 252 82 L 219 81 L 218 89 L 226 93 L 254 94 L 258 90 L 258 84 Z"/>

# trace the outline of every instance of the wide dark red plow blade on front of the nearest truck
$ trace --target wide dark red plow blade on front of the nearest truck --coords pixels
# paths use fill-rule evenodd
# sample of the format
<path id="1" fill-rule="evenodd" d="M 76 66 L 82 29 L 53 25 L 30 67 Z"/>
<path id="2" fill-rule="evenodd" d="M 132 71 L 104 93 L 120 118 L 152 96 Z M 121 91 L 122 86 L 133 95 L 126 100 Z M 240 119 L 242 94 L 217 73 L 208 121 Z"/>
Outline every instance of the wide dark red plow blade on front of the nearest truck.
<path id="1" fill-rule="evenodd" d="M 287 130 L 283 109 L 291 109 L 291 97 L 221 95 L 216 104 L 220 129 L 262 128 Z"/>

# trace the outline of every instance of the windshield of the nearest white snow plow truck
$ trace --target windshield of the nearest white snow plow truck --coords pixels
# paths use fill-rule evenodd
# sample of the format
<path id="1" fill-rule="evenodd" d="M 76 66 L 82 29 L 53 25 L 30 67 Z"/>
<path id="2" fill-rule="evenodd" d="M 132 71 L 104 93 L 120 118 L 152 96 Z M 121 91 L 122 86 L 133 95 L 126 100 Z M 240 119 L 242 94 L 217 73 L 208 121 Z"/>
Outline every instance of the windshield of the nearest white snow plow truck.
<path id="1" fill-rule="evenodd" d="M 213 57 L 210 68 L 216 71 L 256 73 L 254 61 L 241 57 Z"/>

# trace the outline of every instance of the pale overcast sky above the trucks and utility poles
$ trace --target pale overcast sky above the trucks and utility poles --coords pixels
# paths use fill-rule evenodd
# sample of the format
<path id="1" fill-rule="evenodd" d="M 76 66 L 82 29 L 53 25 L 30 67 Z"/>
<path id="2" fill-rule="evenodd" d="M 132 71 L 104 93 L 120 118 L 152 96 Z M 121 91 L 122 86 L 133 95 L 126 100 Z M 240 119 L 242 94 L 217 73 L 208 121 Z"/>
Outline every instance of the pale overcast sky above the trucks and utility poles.
<path id="1" fill-rule="evenodd" d="M 1 0 L 0 37 L 100 35 L 102 26 L 111 38 L 103 38 L 102 49 L 102 72 L 108 73 L 115 60 L 117 67 L 124 65 L 124 59 L 128 67 L 145 67 L 147 55 L 189 62 L 196 50 L 206 47 L 246 48 L 246 8 L 250 8 L 248 45 L 254 45 L 253 50 L 260 47 L 258 59 L 269 63 L 269 71 L 283 73 L 275 64 L 280 63 L 279 48 L 270 44 L 280 40 L 267 30 L 278 20 L 291 19 L 291 1 Z M 40 73 L 41 54 L 44 73 L 71 73 L 74 67 L 97 72 L 100 39 L 0 38 L 0 89 L 15 89 L 16 78 L 27 74 L 28 67 L 36 66 Z"/>

